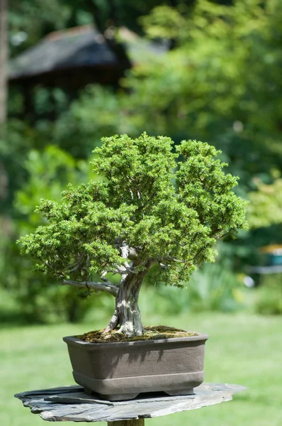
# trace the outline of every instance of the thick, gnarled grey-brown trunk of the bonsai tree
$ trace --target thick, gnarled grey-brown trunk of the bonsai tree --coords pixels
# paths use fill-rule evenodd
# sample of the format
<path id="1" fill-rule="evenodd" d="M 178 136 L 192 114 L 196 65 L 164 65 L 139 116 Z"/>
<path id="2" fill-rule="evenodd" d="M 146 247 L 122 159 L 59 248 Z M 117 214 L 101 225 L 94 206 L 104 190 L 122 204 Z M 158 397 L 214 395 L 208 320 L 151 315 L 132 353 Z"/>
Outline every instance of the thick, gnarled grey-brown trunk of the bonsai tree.
<path id="1" fill-rule="evenodd" d="M 149 267 L 150 265 L 147 263 L 145 271 L 129 273 L 120 283 L 118 295 L 115 299 L 115 312 L 105 332 L 115 329 L 119 324 L 119 332 L 123 332 L 126 337 L 143 334 L 138 297 L 142 281 Z"/>

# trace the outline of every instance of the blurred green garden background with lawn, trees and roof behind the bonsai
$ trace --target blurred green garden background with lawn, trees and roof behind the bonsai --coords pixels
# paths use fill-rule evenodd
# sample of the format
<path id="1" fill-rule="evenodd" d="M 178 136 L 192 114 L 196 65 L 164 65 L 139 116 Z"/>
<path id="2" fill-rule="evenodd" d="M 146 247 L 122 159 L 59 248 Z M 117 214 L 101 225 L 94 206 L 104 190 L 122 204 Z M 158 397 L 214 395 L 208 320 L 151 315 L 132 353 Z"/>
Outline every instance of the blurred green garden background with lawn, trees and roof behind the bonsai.
<path id="1" fill-rule="evenodd" d="M 250 227 L 186 290 L 145 283 L 140 301 L 145 324 L 210 334 L 206 381 L 249 389 L 147 423 L 281 425 L 281 1 L 0 0 L 0 16 L 0 424 L 42 422 L 13 393 L 72 384 L 62 336 L 113 310 L 35 273 L 16 239 L 40 198 L 96 178 L 101 136 L 147 131 L 221 149 Z"/>

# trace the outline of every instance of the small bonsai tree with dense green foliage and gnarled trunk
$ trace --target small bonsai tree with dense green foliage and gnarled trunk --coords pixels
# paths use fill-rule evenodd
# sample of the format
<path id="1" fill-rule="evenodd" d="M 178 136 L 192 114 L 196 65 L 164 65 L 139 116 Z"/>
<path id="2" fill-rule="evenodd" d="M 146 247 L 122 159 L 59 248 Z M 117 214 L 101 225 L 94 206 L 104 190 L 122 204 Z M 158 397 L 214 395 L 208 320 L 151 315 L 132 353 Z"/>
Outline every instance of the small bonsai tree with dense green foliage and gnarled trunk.
<path id="1" fill-rule="evenodd" d="M 102 141 L 92 162 L 101 180 L 68 185 L 61 202 L 41 200 L 37 211 L 47 224 L 20 241 L 36 268 L 61 284 L 115 297 L 105 332 L 119 326 L 126 337 L 138 336 L 138 295 L 150 268 L 157 280 L 183 287 L 214 261 L 216 240 L 246 229 L 246 202 L 208 143 L 182 141 L 174 153 L 164 136 Z"/>

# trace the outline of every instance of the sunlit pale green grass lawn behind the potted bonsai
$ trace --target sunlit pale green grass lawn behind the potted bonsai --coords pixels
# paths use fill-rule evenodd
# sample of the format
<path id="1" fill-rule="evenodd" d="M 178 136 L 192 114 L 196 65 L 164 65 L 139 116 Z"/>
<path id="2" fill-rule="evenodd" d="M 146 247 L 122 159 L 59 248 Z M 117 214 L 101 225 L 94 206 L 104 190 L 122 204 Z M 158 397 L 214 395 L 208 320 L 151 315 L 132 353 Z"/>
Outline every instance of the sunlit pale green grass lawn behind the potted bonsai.
<path id="1" fill-rule="evenodd" d="M 205 313 L 165 319 L 152 315 L 149 318 L 145 313 L 143 322 L 207 332 L 210 339 L 206 344 L 205 381 L 248 387 L 231 402 L 148 419 L 147 426 L 282 425 L 282 317 Z M 0 425 L 43 425 L 43 420 L 23 408 L 13 394 L 74 383 L 62 336 L 105 324 L 106 319 L 100 323 L 96 320 L 95 327 L 84 322 L 1 329 Z"/>

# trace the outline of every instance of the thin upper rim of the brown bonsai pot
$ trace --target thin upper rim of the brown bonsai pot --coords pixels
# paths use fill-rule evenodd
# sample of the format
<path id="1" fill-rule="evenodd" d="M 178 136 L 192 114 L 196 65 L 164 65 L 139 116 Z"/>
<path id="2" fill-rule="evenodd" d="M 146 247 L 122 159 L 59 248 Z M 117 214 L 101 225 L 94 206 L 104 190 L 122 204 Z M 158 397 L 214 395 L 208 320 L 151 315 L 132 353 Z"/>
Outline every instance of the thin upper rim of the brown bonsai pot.
<path id="1" fill-rule="evenodd" d="M 113 346 L 116 347 L 126 347 L 126 346 L 155 346 L 156 344 L 174 344 L 174 343 L 184 343 L 184 342 L 196 342 L 196 341 L 206 341 L 208 340 L 208 334 L 199 333 L 198 336 L 191 336 L 191 337 L 171 337 L 169 339 L 156 339 L 156 340 L 136 340 L 135 342 L 107 342 L 107 343 L 91 343 L 91 342 L 84 342 L 84 340 L 81 340 L 75 336 L 66 336 L 63 337 L 63 341 L 67 344 L 80 344 L 89 346 L 89 349 L 99 348 L 110 348 Z"/>

